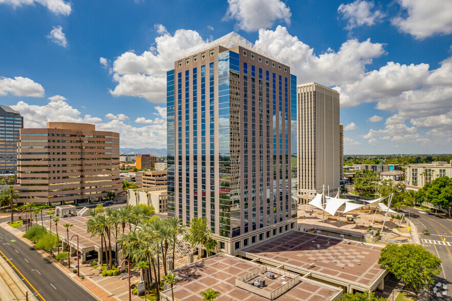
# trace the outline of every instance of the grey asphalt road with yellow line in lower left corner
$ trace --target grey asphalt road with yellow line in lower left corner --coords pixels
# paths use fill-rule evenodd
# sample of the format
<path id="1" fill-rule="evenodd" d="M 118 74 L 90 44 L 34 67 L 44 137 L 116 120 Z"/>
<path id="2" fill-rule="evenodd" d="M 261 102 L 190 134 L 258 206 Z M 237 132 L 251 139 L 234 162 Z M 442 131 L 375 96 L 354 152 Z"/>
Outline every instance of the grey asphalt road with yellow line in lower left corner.
<path id="1" fill-rule="evenodd" d="M 29 289 L 38 292 L 39 301 L 95 300 L 36 250 L 3 228 L 0 228 L 0 251 Z"/>

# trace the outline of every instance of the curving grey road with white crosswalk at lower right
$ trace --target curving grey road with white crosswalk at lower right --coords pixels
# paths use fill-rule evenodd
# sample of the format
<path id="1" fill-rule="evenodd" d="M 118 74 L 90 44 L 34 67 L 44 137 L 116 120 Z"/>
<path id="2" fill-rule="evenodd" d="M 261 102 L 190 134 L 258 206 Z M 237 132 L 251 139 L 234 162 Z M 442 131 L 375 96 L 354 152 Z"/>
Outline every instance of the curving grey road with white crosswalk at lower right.
<path id="1" fill-rule="evenodd" d="M 416 208 L 410 209 L 410 217 L 418 229 L 422 246 L 442 260 L 438 282 L 447 285 L 447 295 L 438 297 L 432 291 L 431 300 L 452 300 L 452 220 Z M 422 233 L 424 228 L 428 229 L 430 235 Z M 444 291 L 442 287 L 437 289 L 437 292 Z"/>

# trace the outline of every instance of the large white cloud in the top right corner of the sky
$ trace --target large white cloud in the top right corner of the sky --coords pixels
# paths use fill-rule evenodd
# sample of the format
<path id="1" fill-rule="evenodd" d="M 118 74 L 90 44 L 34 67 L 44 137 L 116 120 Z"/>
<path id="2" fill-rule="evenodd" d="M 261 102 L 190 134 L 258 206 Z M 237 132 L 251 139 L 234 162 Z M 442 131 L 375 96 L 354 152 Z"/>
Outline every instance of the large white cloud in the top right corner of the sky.
<path id="1" fill-rule="evenodd" d="M 402 32 L 424 39 L 437 34 L 452 33 L 452 1 L 398 0 L 403 12 L 392 19 Z"/>

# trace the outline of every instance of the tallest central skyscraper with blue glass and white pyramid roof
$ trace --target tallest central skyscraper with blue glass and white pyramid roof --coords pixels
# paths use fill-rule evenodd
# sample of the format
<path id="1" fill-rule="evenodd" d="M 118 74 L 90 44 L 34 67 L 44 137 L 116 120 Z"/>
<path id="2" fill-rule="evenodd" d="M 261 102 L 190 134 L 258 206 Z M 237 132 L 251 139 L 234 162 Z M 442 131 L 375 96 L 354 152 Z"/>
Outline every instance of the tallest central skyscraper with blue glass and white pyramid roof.
<path id="1" fill-rule="evenodd" d="M 296 77 L 232 32 L 167 72 L 168 216 L 227 253 L 295 229 Z"/>

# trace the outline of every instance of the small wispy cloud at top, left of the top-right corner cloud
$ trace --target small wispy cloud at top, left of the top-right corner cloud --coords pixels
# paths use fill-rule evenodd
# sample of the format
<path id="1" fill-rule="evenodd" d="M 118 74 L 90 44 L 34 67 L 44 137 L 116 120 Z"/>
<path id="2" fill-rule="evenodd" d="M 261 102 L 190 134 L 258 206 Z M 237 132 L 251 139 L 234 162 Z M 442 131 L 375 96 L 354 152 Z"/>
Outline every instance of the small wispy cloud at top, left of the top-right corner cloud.
<path id="1" fill-rule="evenodd" d="M 362 25 L 374 25 L 381 20 L 384 14 L 380 10 L 372 11 L 375 4 L 373 1 L 356 0 L 349 4 L 341 4 L 337 11 L 342 18 L 347 19 L 347 30 Z"/>

